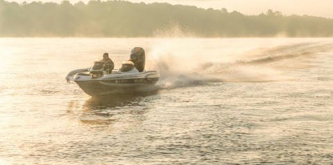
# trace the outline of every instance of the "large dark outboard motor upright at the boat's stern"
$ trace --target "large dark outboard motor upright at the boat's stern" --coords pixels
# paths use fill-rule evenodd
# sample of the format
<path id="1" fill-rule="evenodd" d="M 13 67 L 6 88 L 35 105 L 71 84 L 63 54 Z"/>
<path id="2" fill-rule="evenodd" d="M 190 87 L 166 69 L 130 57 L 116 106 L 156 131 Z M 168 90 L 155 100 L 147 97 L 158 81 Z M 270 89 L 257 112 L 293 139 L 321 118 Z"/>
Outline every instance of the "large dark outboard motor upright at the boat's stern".
<path id="1" fill-rule="evenodd" d="M 140 47 L 135 47 L 130 51 L 130 61 L 133 61 L 135 68 L 139 72 L 144 71 L 144 64 L 146 62 L 146 55 L 144 49 Z"/>

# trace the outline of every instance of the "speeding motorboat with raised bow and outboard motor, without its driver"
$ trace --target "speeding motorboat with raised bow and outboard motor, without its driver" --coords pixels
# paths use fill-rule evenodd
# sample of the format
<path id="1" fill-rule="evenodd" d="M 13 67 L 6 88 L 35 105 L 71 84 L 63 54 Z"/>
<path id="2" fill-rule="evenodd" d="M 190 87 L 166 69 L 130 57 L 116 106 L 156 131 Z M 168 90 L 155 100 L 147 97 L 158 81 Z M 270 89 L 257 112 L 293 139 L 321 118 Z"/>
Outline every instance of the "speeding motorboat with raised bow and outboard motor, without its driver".
<path id="1" fill-rule="evenodd" d="M 119 69 L 112 69 L 102 61 L 94 61 L 92 67 L 73 70 L 67 74 L 67 82 L 75 82 L 90 96 L 118 93 L 142 93 L 155 89 L 160 75 L 155 70 L 144 70 L 144 49 L 135 47 L 130 61 L 123 61 Z M 112 67 L 113 68 L 113 67 Z"/>

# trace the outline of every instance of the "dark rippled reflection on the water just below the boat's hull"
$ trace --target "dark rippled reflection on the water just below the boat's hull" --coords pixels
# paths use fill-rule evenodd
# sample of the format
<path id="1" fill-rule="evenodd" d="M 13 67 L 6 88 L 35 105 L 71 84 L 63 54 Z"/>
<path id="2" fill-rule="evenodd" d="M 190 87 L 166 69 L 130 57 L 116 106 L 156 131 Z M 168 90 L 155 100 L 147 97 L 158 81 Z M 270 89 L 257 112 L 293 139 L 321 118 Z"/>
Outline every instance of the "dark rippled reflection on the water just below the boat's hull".
<path id="1" fill-rule="evenodd" d="M 85 101 L 69 101 L 67 113 L 74 115 L 83 124 L 106 126 L 120 124 L 136 125 L 144 119 L 151 108 L 150 98 L 157 93 L 132 93 L 90 97 Z"/>

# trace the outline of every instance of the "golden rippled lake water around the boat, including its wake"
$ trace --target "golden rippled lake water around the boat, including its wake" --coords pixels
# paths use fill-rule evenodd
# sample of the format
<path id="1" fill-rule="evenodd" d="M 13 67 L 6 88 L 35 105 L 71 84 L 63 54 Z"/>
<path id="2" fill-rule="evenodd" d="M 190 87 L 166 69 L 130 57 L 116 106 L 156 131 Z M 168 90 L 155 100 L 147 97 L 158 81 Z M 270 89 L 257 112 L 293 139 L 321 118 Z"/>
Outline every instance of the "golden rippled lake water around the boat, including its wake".
<path id="1" fill-rule="evenodd" d="M 146 50 L 155 93 L 71 70 Z M 332 164 L 333 39 L 0 39 L 0 164 Z"/>

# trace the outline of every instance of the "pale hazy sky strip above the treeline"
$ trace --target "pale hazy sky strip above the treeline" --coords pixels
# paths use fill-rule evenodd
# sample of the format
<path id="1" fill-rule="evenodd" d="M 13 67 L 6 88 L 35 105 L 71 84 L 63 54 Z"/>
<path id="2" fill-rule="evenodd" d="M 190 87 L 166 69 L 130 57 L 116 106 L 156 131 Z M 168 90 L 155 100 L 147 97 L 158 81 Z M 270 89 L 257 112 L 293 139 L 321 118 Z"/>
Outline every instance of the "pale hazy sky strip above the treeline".
<path id="1" fill-rule="evenodd" d="M 12 1 L 12 0 L 6 0 Z M 17 3 L 23 1 L 54 1 L 60 3 L 62 0 L 17 0 Z M 69 0 L 76 3 L 80 0 Z M 89 0 L 81 0 L 87 3 Z M 102 0 L 103 1 L 103 0 Z M 259 14 L 268 9 L 280 11 L 282 14 L 312 15 L 318 17 L 327 17 L 333 19 L 333 0 L 128 0 L 132 2 L 153 3 L 167 2 L 171 4 L 181 4 L 197 6 L 198 8 L 226 8 L 229 12 L 237 10 L 243 14 Z"/>

